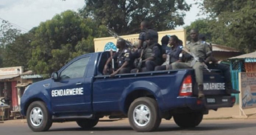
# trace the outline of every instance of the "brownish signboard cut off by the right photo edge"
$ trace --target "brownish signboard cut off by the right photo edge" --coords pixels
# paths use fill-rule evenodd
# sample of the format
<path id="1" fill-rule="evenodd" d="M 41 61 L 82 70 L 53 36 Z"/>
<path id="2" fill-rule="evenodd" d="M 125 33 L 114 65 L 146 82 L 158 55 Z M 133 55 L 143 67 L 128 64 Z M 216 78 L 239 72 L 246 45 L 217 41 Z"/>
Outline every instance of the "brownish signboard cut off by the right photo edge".
<path id="1" fill-rule="evenodd" d="M 242 109 L 256 107 L 256 72 L 239 73 L 239 87 Z"/>

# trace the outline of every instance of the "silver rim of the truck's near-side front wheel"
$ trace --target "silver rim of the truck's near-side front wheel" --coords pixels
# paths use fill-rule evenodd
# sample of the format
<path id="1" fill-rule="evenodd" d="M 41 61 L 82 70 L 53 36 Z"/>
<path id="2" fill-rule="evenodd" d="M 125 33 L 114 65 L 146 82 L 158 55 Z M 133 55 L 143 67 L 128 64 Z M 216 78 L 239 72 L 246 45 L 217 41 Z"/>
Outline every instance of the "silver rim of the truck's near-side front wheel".
<path id="1" fill-rule="evenodd" d="M 33 126 L 39 126 L 43 121 L 43 112 L 39 107 L 34 107 L 31 112 L 29 119 Z"/>

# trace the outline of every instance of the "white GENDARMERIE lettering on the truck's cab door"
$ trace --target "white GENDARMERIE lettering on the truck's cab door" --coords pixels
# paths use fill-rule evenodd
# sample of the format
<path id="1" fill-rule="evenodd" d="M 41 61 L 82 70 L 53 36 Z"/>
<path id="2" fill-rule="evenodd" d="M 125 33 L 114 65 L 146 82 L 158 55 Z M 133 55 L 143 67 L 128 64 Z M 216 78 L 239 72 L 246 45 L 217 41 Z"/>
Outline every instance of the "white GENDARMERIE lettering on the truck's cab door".
<path id="1" fill-rule="evenodd" d="M 83 88 L 72 88 L 72 89 L 61 89 L 61 90 L 52 90 L 51 96 L 72 96 L 72 95 L 83 95 Z"/>

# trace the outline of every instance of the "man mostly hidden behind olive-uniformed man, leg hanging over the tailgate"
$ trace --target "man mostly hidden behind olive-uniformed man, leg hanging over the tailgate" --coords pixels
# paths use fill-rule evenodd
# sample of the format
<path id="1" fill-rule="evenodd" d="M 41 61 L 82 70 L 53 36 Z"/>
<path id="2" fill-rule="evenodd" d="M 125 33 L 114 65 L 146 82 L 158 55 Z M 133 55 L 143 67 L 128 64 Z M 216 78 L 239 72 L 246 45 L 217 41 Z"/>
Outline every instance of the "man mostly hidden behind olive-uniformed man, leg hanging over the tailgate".
<path id="1" fill-rule="evenodd" d="M 201 41 L 202 43 L 206 43 L 205 40 L 206 40 L 205 36 L 203 34 L 199 34 L 199 41 Z M 209 45 L 209 47 L 211 48 L 211 51 L 212 51 L 211 44 L 207 44 L 207 45 Z M 239 91 L 234 90 L 232 88 L 230 66 L 218 63 L 218 60 L 216 58 L 214 58 L 212 54 L 207 59 L 205 59 L 205 63 L 208 66 L 209 69 L 218 69 L 218 70 L 222 70 L 224 72 L 225 83 L 226 83 L 226 86 L 227 86 L 226 87 L 226 93 L 228 95 L 231 95 L 232 93 L 233 94 L 240 93 Z"/>

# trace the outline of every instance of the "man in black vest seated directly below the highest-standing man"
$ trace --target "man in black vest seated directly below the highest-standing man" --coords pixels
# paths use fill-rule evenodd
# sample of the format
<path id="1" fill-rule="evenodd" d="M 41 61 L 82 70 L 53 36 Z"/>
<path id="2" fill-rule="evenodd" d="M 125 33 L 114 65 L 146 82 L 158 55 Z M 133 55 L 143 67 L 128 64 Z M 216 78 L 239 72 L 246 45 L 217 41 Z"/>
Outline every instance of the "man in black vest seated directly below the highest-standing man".
<path id="1" fill-rule="evenodd" d="M 135 52 L 135 58 L 139 58 L 142 54 L 141 61 L 136 65 L 137 69 L 133 69 L 131 73 L 153 71 L 157 65 L 161 65 L 161 50 L 158 42 L 158 34 L 156 31 L 149 29 L 145 35 L 146 45 L 142 49 Z"/>

